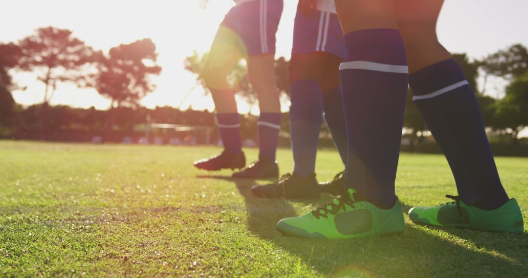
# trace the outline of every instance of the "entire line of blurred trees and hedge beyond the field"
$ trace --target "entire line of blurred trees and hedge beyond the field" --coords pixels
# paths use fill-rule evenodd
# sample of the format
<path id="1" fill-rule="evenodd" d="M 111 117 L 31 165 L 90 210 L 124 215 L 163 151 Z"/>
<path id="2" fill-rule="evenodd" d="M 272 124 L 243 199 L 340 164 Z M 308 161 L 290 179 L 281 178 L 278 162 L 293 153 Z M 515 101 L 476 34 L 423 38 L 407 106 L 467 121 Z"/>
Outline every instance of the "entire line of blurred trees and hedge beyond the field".
<path id="1" fill-rule="evenodd" d="M 482 109 L 485 125 L 511 144 L 518 143 L 518 133 L 528 126 L 528 50 L 516 44 L 482 59 L 470 59 L 466 54 L 454 54 L 463 68 Z M 196 74 L 196 82 L 206 88 L 201 71 L 207 54 L 197 53 L 184 61 L 186 70 Z M 157 64 L 156 45 L 148 38 L 112 47 L 107 53 L 94 49 L 67 29 L 45 27 L 17 42 L 0 44 L 0 136 L 29 136 L 46 139 L 61 131 L 90 131 L 90 134 L 133 132 L 134 126 L 144 125 L 147 118 L 157 123 L 177 123 L 214 126 L 214 115 L 209 112 L 178 111 L 171 107 L 148 110 L 140 100 L 155 90 L 150 77 L 161 73 Z M 17 105 L 11 91 L 24 90 L 25 84 L 14 84 L 10 74 L 31 72 L 45 86 L 40 104 L 29 107 Z M 276 61 L 277 86 L 286 99 L 289 95 L 288 61 Z M 494 98 L 485 92 L 486 81 L 500 77 L 507 81 L 504 96 Z M 479 79 L 480 78 L 480 79 Z M 235 66 L 229 77 L 237 94 L 250 105 L 256 103 L 256 93 L 247 77 L 243 62 Z M 481 81 L 481 82 L 478 82 Z M 111 100 L 110 109 L 80 109 L 50 106 L 58 84 L 68 82 L 80 88 L 95 88 Z M 479 86 L 480 85 L 480 86 Z M 162 112 L 164 111 L 164 112 Z M 289 132 L 287 114 L 283 133 Z M 243 133 L 252 137 L 254 116 L 247 115 Z M 244 121 L 246 121 L 244 120 Z M 409 93 L 404 126 L 411 145 L 420 144 L 428 136 Z M 323 127 L 326 132 L 326 128 Z M 16 136 L 13 136 L 16 135 Z"/>

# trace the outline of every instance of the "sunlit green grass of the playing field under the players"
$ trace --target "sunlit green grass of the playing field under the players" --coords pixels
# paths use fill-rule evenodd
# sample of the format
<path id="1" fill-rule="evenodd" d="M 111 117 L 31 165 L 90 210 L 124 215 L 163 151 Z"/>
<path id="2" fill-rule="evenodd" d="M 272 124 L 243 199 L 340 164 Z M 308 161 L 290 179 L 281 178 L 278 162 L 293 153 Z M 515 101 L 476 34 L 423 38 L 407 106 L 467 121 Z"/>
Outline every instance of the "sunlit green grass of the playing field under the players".
<path id="1" fill-rule="evenodd" d="M 0 141 L 0 276 L 528 277 L 526 230 L 436 229 L 406 216 L 401 237 L 282 237 L 275 223 L 314 204 L 254 198 L 254 181 L 192 167 L 218 151 Z M 289 150 L 279 160 L 292 168 Z M 528 219 L 528 159 L 497 164 Z M 341 170 L 336 152 L 319 152 L 319 180 Z M 456 189 L 442 156 L 402 154 L 397 193 L 408 209 Z"/>

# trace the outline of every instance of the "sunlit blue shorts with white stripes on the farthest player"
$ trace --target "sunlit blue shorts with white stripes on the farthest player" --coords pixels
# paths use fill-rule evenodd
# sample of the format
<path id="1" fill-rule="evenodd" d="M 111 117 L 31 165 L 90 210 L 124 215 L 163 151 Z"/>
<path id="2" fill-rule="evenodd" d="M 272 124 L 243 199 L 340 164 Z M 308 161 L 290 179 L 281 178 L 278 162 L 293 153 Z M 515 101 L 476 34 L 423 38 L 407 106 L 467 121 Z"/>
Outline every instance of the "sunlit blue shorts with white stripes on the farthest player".
<path id="1" fill-rule="evenodd" d="M 248 55 L 275 54 L 282 5 L 282 0 L 250 0 L 237 4 L 225 15 L 221 26 L 238 34 Z"/>

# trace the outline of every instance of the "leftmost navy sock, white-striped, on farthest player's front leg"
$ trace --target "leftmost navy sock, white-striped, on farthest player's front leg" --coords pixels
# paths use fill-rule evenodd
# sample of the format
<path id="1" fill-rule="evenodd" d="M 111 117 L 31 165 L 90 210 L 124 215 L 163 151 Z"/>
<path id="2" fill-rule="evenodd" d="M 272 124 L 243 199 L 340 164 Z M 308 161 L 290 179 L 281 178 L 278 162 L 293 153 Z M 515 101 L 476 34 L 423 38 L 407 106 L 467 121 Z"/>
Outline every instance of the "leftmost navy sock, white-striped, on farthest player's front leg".
<path id="1" fill-rule="evenodd" d="M 240 116 L 238 113 L 216 114 L 216 121 L 225 150 L 231 153 L 242 152 L 240 138 Z"/>

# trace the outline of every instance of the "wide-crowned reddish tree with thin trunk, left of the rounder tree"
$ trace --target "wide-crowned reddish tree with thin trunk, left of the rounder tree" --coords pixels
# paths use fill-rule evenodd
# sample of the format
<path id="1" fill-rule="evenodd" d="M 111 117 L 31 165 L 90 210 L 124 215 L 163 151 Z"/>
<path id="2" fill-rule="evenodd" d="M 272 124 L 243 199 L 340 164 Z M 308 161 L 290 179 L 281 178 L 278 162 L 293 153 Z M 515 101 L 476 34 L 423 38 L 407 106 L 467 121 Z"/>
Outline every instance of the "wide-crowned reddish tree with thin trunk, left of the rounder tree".
<path id="1" fill-rule="evenodd" d="M 25 37 L 19 43 L 22 57 L 20 67 L 37 74 L 45 84 L 43 104 L 48 105 L 60 82 L 87 85 L 87 72 L 100 56 L 100 52 L 73 37 L 68 29 L 45 27 Z"/>

